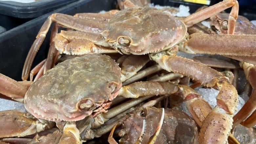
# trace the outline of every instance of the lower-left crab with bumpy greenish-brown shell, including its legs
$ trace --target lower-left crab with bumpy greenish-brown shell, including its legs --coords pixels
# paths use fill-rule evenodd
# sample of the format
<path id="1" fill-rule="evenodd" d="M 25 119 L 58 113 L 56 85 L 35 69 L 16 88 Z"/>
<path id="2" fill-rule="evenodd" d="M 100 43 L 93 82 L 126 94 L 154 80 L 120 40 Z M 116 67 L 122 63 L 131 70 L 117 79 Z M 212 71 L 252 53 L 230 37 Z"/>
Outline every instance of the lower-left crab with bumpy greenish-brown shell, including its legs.
<path id="1" fill-rule="evenodd" d="M 95 118 L 96 122 L 86 127 L 97 128 L 96 125 L 101 123 L 102 119 L 111 118 L 107 114 L 103 116 L 101 114 L 107 112 L 117 94 L 132 98 L 144 96 L 133 100 L 133 105 L 123 110 L 126 111 L 141 102 L 141 99 L 147 99 L 146 95 L 172 94 L 179 90 L 177 84 L 154 81 L 133 83 L 121 88 L 121 70 L 118 64 L 109 56 L 101 54 L 88 54 L 59 63 L 29 88 L 5 75 L 0 74 L 0 78 L 2 79 L 0 93 L 14 100 L 24 101 L 27 112 L 33 115 L 17 111 L 2 112 L 1 120 L 9 119 L 6 121 L 7 126 L 18 124 L 21 126 L 15 133 L 13 133 L 15 128 L 1 133 L 1 137 L 34 134 L 53 127 L 51 121 L 54 121 L 62 130 L 61 139 L 72 139 L 76 143 L 81 142 L 80 133 L 83 134 L 84 130 L 78 130 L 76 125 L 79 124 L 74 122 L 83 119 L 90 121 L 90 118 Z M 18 93 L 18 91 L 26 93 Z M 123 103 L 120 108 L 113 109 L 120 111 L 125 105 Z M 110 114 L 113 115 L 113 112 Z M 62 121 L 66 121 L 65 126 L 61 126 Z"/>

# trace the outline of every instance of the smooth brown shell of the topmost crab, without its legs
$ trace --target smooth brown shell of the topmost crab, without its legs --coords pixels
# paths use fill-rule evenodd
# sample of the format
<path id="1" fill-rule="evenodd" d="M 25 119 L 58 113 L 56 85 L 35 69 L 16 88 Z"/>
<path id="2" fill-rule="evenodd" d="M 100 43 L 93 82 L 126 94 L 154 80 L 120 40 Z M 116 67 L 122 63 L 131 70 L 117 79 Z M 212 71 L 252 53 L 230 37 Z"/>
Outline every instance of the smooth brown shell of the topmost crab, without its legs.
<path id="1" fill-rule="evenodd" d="M 185 24 L 170 13 L 137 7 L 115 14 L 101 34 L 118 51 L 141 55 L 171 48 L 186 33 Z M 129 45 L 120 44 L 119 38 L 129 40 Z"/>

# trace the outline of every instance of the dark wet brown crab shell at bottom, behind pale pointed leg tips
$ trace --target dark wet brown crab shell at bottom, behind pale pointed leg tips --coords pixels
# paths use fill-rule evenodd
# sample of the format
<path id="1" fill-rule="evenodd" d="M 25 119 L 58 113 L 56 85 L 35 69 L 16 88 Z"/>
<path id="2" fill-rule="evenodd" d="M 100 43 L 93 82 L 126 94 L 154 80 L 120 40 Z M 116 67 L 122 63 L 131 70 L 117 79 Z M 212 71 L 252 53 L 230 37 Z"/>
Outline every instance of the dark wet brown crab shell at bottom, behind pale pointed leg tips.
<path id="1" fill-rule="evenodd" d="M 157 144 L 196 144 L 198 142 L 198 129 L 194 120 L 186 113 L 175 110 L 164 110 L 163 124 L 155 143 Z M 146 120 L 146 129 L 141 144 L 147 144 L 155 133 L 160 122 L 162 109 L 155 107 L 145 108 L 140 115 L 131 114 L 123 123 L 121 133 L 125 134 L 119 140 L 120 144 L 136 143 L 141 134 L 143 119 Z M 145 115 L 145 116 L 141 116 Z M 121 134 L 119 132 L 119 134 Z M 119 135 L 121 136 L 121 135 Z"/>

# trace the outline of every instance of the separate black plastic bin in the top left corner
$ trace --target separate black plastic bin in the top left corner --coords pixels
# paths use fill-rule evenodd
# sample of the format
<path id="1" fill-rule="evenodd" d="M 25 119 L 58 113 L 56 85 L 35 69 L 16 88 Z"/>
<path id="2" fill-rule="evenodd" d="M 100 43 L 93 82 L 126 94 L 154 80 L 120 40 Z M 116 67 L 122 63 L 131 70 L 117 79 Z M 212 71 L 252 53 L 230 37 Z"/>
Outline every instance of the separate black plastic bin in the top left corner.
<path id="1" fill-rule="evenodd" d="M 77 0 L 40 0 L 32 3 L 0 1 L 0 26 L 10 30 Z"/>

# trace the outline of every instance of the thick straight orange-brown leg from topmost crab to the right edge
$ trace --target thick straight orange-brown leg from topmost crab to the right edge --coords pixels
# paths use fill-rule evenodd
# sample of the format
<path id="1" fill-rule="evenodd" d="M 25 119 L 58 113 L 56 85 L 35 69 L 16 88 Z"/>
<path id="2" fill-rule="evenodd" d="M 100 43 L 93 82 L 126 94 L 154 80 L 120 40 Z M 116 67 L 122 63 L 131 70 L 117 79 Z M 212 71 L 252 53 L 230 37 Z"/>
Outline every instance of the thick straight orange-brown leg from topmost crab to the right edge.
<path id="1" fill-rule="evenodd" d="M 204 39 L 202 41 L 202 39 Z M 179 46 L 186 53 L 220 54 L 235 56 L 256 56 L 256 35 L 193 33 L 188 41 Z"/>

